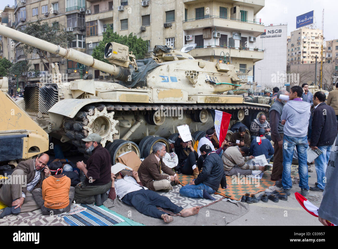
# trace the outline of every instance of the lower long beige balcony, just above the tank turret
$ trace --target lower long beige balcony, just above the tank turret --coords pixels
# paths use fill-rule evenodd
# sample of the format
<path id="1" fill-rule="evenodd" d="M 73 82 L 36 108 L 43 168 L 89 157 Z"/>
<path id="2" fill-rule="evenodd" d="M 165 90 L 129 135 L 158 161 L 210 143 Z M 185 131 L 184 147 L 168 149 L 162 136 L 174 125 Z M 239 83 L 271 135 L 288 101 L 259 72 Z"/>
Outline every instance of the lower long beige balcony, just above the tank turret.
<path id="1" fill-rule="evenodd" d="M 219 55 L 223 51 L 224 54 L 229 53 L 232 58 L 244 58 L 244 59 L 252 59 L 253 62 L 260 61 L 264 59 L 264 50 L 256 50 L 254 48 L 250 49 L 239 49 L 237 48 L 228 48 L 228 47 L 220 47 L 220 46 L 204 46 L 197 47 L 189 52 L 189 54 L 194 57 L 204 57 L 204 56 L 213 56 L 215 51 L 215 58 L 219 59 Z"/>

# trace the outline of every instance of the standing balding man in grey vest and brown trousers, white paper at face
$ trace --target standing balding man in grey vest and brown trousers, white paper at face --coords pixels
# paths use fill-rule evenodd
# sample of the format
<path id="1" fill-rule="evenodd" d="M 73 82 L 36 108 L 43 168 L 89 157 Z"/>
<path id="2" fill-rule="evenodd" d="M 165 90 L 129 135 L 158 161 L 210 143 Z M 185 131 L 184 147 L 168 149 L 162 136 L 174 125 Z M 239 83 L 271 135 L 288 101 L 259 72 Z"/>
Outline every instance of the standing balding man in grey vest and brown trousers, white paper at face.
<path id="1" fill-rule="evenodd" d="M 273 167 L 271 173 L 271 181 L 282 180 L 283 173 L 283 137 L 284 137 L 284 125 L 282 125 L 281 116 L 283 113 L 283 107 L 286 103 L 285 100 L 281 100 L 281 95 L 289 96 L 289 92 L 286 90 L 280 90 L 277 92 L 277 98 L 271 105 L 269 110 L 270 126 L 271 126 L 271 139 L 274 143 L 273 153 Z"/>

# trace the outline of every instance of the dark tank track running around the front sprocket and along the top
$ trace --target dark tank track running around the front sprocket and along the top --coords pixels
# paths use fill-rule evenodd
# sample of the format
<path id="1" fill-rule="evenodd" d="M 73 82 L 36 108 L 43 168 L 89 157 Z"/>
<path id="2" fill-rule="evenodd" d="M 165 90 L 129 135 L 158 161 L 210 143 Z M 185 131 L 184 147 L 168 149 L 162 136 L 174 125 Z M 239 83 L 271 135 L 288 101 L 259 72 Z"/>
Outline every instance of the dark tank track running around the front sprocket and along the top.
<path id="1" fill-rule="evenodd" d="M 66 133 L 66 136 L 71 140 L 72 144 L 75 145 L 79 152 L 84 153 L 86 157 L 89 155 L 86 153 L 85 143 L 81 139 L 88 136 L 89 131 L 85 128 L 90 122 L 87 116 L 92 116 L 95 113 L 95 109 L 98 111 L 103 111 L 106 108 L 107 113 L 112 111 L 116 114 L 123 115 L 123 112 L 135 112 L 135 114 L 140 113 L 146 114 L 148 112 L 158 110 L 161 107 L 163 108 L 173 108 L 173 107 L 182 107 L 186 113 L 193 112 L 195 110 L 203 109 L 216 109 L 216 110 L 239 110 L 239 109 L 248 109 L 249 111 L 264 111 L 266 113 L 266 118 L 269 121 L 269 111 L 267 107 L 256 106 L 256 105 L 215 105 L 215 104 L 186 104 L 186 105 L 170 105 L 170 104 L 161 104 L 161 105 L 113 105 L 113 104 L 94 104 L 87 105 L 81 108 L 81 110 L 76 114 L 74 118 L 66 118 L 64 120 L 63 128 Z M 88 127 L 88 126 L 87 126 Z M 86 155 L 87 154 L 87 155 Z"/>

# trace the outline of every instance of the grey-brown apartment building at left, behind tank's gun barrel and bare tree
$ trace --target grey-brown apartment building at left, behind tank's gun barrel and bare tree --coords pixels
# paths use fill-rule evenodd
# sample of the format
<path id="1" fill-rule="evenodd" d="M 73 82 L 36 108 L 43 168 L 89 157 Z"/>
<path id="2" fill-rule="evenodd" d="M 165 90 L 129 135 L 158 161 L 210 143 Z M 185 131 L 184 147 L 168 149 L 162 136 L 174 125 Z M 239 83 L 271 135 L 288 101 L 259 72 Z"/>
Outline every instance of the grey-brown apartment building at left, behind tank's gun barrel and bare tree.
<path id="1" fill-rule="evenodd" d="M 63 25 L 65 32 L 73 32 L 76 40 L 70 42 L 68 47 L 80 50 L 86 53 L 85 41 L 85 23 L 84 14 L 80 12 L 85 9 L 85 0 L 14 0 L 14 17 L 9 27 L 18 28 L 27 22 L 33 22 L 42 19 L 49 25 Z M 6 9 L 6 8 L 5 8 Z M 7 42 L 10 45 L 10 41 Z M 12 45 L 13 46 L 13 45 Z M 41 74 L 36 77 L 34 74 L 27 75 L 27 83 L 39 82 L 42 76 L 48 76 L 51 73 L 51 66 L 43 55 L 32 53 L 25 55 L 20 48 L 20 44 L 14 46 L 13 61 L 29 60 L 32 69 L 39 70 Z M 80 65 L 71 60 L 66 60 L 58 55 L 47 53 L 51 63 L 58 62 L 61 74 L 68 73 L 68 80 L 79 79 L 80 70 L 85 74 L 86 66 Z M 25 82 L 21 83 L 21 89 L 25 87 Z"/>

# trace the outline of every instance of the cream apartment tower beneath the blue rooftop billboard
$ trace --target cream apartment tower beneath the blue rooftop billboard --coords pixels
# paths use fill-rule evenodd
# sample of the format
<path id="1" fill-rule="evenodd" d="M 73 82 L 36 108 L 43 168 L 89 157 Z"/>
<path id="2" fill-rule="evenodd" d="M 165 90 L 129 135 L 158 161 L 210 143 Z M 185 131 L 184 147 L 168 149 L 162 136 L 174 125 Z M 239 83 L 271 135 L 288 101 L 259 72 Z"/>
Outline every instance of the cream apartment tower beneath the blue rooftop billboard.
<path id="1" fill-rule="evenodd" d="M 321 29 L 299 28 L 292 31 L 287 45 L 287 65 L 315 63 L 316 56 L 319 61 L 320 36 Z"/>

